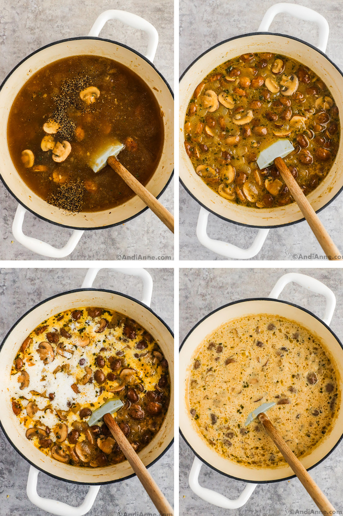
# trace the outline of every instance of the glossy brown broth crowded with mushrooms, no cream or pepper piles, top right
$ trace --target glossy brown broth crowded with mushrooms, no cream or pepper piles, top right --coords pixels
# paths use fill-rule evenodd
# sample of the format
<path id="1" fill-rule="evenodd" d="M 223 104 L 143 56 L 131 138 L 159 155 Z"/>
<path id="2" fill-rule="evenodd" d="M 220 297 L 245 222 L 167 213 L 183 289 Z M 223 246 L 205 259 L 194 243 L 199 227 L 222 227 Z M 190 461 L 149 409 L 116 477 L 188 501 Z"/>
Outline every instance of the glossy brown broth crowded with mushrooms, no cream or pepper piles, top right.
<path id="1" fill-rule="evenodd" d="M 284 158 L 307 195 L 328 174 L 339 145 L 332 94 L 312 70 L 272 53 L 243 54 L 211 71 L 195 89 L 185 119 L 185 147 L 195 172 L 223 198 L 250 207 L 293 202 L 274 165 L 259 152 L 279 138 Z"/>

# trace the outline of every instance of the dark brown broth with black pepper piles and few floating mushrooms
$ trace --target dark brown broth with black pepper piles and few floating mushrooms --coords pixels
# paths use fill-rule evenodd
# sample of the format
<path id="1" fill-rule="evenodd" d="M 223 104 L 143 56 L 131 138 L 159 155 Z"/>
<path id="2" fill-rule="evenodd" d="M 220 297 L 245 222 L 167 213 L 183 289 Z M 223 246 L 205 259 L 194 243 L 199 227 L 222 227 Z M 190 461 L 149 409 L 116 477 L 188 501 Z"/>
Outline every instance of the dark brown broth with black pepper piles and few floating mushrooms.
<path id="1" fill-rule="evenodd" d="M 94 173 L 90 154 L 118 138 L 118 159 L 143 185 L 164 142 L 161 109 L 150 87 L 106 57 L 63 58 L 33 74 L 10 110 L 12 162 L 39 197 L 70 212 L 97 212 L 134 197 L 109 166 Z"/>

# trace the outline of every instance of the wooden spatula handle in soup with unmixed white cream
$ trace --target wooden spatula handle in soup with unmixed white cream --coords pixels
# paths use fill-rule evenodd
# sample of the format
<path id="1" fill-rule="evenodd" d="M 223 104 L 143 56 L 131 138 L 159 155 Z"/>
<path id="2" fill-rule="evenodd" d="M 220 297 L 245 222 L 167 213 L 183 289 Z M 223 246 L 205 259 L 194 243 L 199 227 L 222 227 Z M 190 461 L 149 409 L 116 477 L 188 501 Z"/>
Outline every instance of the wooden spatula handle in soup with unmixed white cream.
<path id="1" fill-rule="evenodd" d="M 143 462 L 140 460 L 133 447 L 130 445 L 123 432 L 113 419 L 111 414 L 104 415 L 104 422 L 108 426 L 112 436 L 116 439 L 120 449 L 125 455 L 126 459 L 132 466 L 132 469 L 138 476 L 142 483 L 145 491 L 149 494 L 150 498 L 154 502 L 154 505 L 160 514 L 174 514 L 174 510 L 169 504 L 165 495 L 161 492 L 157 486 L 155 480 L 150 475 Z"/>

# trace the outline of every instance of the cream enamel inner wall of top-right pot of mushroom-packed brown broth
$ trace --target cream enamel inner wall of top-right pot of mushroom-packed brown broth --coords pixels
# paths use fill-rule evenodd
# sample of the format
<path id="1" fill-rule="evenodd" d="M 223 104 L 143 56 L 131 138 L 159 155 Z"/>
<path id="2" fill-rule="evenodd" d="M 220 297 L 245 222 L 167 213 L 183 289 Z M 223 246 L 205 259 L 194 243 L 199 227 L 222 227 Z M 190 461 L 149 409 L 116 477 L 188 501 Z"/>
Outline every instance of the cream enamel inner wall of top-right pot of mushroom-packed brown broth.
<path id="1" fill-rule="evenodd" d="M 195 88 L 211 70 L 221 63 L 250 52 L 273 52 L 300 61 L 311 68 L 329 87 L 339 111 L 343 112 L 343 80 L 341 72 L 315 47 L 289 36 L 275 34 L 244 35 L 224 41 L 200 56 L 186 71 L 179 84 L 179 176 L 195 200 L 221 218 L 255 227 L 276 227 L 298 222 L 303 215 L 293 202 L 275 208 L 251 208 L 230 202 L 211 190 L 195 173 L 184 146 L 184 122 L 188 103 Z M 340 128 L 342 131 L 342 127 Z M 315 211 L 323 208 L 343 187 L 343 142 L 340 134 L 339 149 L 331 171 L 308 196 Z"/>

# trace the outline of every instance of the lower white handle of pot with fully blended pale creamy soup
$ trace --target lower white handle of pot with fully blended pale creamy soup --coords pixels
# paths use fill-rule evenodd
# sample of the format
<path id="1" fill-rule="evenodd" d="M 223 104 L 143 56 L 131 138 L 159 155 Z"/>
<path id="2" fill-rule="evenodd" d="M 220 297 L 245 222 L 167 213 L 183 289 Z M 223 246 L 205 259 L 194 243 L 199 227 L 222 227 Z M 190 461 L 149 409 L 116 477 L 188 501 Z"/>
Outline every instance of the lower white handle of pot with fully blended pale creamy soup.
<path id="1" fill-rule="evenodd" d="M 198 457 L 194 457 L 193 464 L 189 473 L 188 481 L 191 490 L 197 494 L 200 498 L 208 502 L 209 504 L 216 505 L 217 507 L 222 507 L 223 509 L 238 509 L 246 504 L 253 494 L 257 484 L 247 483 L 246 487 L 240 493 L 238 498 L 235 500 L 230 500 L 226 498 L 226 496 L 217 493 L 217 491 L 213 491 L 212 489 L 207 489 L 206 487 L 202 487 L 199 484 L 199 473 L 201 470 L 201 466 L 203 463 Z"/>

